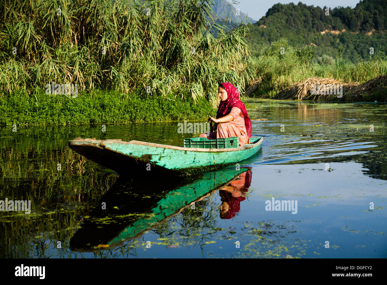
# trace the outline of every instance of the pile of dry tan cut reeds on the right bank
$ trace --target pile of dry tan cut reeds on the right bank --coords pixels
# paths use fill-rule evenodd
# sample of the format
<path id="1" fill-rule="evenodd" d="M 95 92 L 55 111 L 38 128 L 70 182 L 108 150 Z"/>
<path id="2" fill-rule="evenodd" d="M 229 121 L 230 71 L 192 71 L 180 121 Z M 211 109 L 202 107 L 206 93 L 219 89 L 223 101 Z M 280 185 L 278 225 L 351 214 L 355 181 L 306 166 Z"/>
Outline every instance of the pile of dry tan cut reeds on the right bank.
<path id="1" fill-rule="evenodd" d="M 386 74 L 362 84 L 358 82 L 343 83 L 333 78 L 311 77 L 279 92 L 273 99 L 353 101 L 369 98 L 373 93 L 386 87 Z M 384 95 L 384 100 L 385 97 L 386 95 Z"/>

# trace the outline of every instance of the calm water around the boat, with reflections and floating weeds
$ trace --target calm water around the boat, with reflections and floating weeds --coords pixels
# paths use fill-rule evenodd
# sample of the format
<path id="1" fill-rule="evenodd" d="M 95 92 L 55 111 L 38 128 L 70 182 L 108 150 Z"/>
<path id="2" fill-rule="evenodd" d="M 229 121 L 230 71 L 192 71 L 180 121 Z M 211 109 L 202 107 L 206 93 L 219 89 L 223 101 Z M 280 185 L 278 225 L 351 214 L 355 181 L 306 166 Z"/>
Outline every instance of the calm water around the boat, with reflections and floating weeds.
<path id="1" fill-rule="evenodd" d="M 261 150 L 189 178 L 119 177 L 67 147 L 197 136 L 177 122 L 0 128 L 0 200 L 31 200 L 0 212 L 0 257 L 387 257 L 387 105 L 248 103 Z"/>

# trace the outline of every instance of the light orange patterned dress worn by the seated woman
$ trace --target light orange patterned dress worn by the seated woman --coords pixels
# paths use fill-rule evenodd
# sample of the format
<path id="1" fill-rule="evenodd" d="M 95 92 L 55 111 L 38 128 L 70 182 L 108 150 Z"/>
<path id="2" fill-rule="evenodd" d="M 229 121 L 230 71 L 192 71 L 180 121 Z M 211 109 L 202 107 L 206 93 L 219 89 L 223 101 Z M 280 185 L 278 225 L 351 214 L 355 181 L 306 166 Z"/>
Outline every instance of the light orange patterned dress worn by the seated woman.
<path id="1" fill-rule="evenodd" d="M 233 107 L 230 115 L 233 116 L 233 119 L 227 123 L 218 124 L 216 132 L 209 133 L 209 135 L 201 134 L 199 137 L 207 137 L 209 140 L 214 140 L 215 138 L 238 136 L 239 146 L 247 144 L 249 140 L 245 126 L 245 116 L 243 116 L 241 109 Z"/>

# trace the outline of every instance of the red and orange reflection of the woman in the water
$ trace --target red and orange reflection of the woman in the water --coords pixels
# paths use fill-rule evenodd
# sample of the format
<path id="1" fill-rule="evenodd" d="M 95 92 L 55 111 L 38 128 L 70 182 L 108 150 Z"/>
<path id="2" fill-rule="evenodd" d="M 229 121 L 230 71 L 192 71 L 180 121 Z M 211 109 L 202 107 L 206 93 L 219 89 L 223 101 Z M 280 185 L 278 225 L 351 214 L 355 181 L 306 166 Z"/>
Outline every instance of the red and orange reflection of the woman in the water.
<path id="1" fill-rule="evenodd" d="M 244 197 L 251 184 L 251 169 L 245 171 L 227 186 L 220 189 L 222 204 L 220 206 L 220 217 L 222 219 L 231 219 L 240 210 L 240 202 L 245 200 Z"/>

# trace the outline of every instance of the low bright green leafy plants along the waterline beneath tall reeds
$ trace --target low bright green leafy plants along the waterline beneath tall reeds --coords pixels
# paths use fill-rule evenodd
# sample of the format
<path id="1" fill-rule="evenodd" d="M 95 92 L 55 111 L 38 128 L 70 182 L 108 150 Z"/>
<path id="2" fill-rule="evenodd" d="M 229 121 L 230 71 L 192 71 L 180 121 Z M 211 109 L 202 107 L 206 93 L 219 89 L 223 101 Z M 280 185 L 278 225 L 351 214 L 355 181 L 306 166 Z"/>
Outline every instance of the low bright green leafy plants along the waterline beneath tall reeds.
<path id="1" fill-rule="evenodd" d="M 0 100 L 0 125 L 117 124 L 158 121 L 207 121 L 213 115 L 209 101 L 191 94 L 166 96 L 142 95 L 93 90 L 80 92 L 76 98 L 41 92 L 31 97 L 22 93 L 4 94 Z M 183 99 L 182 99 L 183 98 Z"/>

